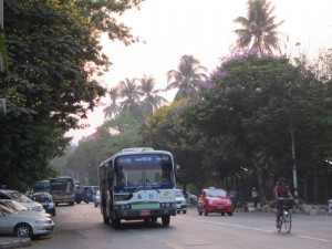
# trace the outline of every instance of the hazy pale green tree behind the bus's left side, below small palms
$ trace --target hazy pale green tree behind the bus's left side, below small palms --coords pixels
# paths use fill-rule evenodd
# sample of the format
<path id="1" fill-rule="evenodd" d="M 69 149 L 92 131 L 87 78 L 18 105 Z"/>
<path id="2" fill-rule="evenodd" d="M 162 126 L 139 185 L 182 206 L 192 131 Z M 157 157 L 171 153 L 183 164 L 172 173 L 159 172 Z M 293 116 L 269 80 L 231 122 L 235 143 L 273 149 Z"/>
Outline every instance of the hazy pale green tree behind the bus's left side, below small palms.
<path id="1" fill-rule="evenodd" d="M 69 155 L 66 173 L 81 184 L 96 184 L 97 167 L 102 162 L 123 148 L 142 146 L 139 128 L 141 124 L 127 113 L 105 121 L 94 139 L 80 142 Z"/>

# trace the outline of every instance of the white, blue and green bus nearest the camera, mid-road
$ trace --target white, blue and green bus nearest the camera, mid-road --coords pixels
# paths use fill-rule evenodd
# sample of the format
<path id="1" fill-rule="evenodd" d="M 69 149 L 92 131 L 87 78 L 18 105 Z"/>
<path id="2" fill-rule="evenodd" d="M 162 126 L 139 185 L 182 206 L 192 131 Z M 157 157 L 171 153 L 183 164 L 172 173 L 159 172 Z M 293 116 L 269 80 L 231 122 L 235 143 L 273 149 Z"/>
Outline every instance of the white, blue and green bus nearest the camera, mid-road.
<path id="1" fill-rule="evenodd" d="M 98 167 L 104 224 L 121 220 L 157 221 L 168 226 L 176 215 L 176 166 L 173 155 L 152 148 L 126 148 Z"/>

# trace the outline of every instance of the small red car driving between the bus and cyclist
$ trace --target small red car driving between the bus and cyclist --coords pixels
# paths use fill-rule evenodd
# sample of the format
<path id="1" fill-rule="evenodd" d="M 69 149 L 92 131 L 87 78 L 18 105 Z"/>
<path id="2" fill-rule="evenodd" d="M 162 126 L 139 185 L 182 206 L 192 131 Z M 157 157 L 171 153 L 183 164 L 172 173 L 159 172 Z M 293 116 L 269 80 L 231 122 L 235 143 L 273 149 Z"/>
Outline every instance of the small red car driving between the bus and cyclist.
<path id="1" fill-rule="evenodd" d="M 222 188 L 206 188 L 201 190 L 197 206 L 198 214 L 207 216 L 209 212 L 217 212 L 225 216 L 227 212 L 232 216 L 232 205 L 227 191 Z"/>

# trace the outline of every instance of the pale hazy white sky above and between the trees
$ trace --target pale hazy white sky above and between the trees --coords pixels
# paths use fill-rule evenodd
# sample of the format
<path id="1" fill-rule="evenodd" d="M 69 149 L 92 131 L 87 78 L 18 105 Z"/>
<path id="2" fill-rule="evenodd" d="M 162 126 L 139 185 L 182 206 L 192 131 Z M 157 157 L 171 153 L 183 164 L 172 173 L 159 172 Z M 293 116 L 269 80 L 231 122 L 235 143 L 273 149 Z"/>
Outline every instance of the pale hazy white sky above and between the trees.
<path id="1" fill-rule="evenodd" d="M 322 46 L 332 46 L 331 0 L 271 0 L 276 7 L 277 21 L 284 21 L 279 29 L 289 35 L 288 53 L 301 51 L 318 54 Z M 105 53 L 113 65 L 101 79 L 102 85 L 115 86 L 128 77 L 144 74 L 156 79 L 157 89 L 166 87 L 166 72 L 177 70 L 179 59 L 191 54 L 210 72 L 219 59 L 229 55 L 236 37 L 232 31 L 241 28 L 234 23 L 237 17 L 247 17 L 247 0 L 146 0 L 141 10 L 126 12 L 122 20 L 132 28 L 132 33 L 145 43 L 125 46 L 120 42 L 104 41 Z M 173 98 L 174 93 L 165 95 Z M 103 100 L 108 103 L 108 97 Z M 74 143 L 87 136 L 104 122 L 104 106 L 82 121 L 90 127 L 71 132 Z"/>

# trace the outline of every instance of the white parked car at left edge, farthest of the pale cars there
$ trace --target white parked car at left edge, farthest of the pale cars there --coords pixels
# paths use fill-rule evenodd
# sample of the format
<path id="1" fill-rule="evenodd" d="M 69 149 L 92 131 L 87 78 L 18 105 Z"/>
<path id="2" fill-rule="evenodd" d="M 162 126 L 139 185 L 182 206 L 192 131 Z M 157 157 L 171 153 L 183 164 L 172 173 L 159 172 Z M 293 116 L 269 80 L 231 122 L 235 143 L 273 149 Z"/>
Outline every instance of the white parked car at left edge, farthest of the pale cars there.
<path id="1" fill-rule="evenodd" d="M 0 199 L 13 199 L 22 205 L 24 205 L 27 208 L 33 211 L 44 211 L 44 208 L 41 204 L 33 201 L 28 196 L 11 189 L 0 189 Z"/>

